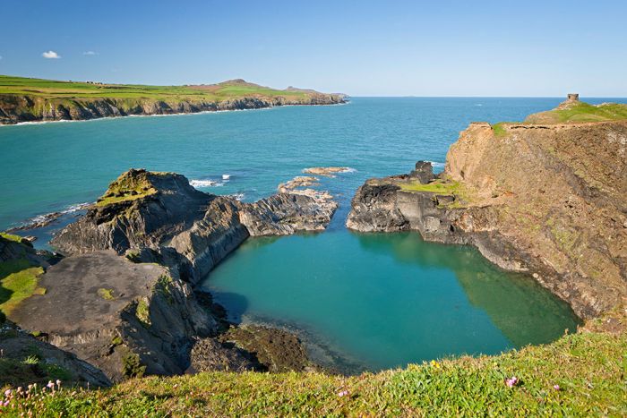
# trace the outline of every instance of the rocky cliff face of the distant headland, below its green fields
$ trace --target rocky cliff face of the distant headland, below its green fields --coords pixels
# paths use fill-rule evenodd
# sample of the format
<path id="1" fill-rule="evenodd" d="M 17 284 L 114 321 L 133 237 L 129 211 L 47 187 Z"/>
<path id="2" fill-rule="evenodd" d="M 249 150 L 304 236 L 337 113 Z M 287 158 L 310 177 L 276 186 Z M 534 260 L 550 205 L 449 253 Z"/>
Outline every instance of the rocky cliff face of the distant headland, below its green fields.
<path id="1" fill-rule="evenodd" d="M 20 122 L 88 120 L 128 115 L 174 115 L 218 110 L 259 109 L 296 105 L 344 103 L 341 95 L 312 93 L 305 98 L 245 97 L 219 101 L 149 98 L 41 98 L 28 95 L 0 95 L 0 124 Z"/>

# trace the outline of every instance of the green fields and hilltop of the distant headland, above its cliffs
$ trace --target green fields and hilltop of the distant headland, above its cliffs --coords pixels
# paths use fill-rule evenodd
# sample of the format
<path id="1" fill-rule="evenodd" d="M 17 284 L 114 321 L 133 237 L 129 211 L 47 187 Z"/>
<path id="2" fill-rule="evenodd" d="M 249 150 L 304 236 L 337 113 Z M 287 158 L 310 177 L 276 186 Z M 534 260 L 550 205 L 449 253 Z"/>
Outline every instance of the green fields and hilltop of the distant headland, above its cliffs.
<path id="1" fill-rule="evenodd" d="M 213 86 L 144 86 L 134 84 L 90 84 L 80 81 L 51 81 L 0 75 L 0 95 L 64 98 L 147 98 L 156 100 L 221 101 L 243 97 L 305 98 L 302 91 L 274 90 L 241 81 Z"/>

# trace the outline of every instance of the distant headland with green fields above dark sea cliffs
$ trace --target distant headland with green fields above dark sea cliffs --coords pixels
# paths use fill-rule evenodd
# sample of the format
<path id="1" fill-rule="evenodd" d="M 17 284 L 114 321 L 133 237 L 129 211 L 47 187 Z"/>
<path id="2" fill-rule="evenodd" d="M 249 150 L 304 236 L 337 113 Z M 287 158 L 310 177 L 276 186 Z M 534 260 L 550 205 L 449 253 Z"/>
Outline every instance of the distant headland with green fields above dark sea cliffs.
<path id="1" fill-rule="evenodd" d="M 339 94 L 275 90 L 244 80 L 147 86 L 0 75 L 0 124 L 343 103 Z"/>

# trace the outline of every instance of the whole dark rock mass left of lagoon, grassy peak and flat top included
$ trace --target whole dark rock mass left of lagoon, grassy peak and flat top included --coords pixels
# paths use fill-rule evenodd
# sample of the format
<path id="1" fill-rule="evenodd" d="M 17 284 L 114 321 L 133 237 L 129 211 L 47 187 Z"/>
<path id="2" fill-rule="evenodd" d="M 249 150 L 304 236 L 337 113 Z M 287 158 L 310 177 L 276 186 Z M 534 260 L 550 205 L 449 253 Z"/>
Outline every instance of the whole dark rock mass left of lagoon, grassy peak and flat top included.
<path id="1" fill-rule="evenodd" d="M 232 324 L 195 287 L 251 235 L 324 229 L 337 203 L 326 192 L 304 193 L 242 203 L 199 192 L 183 175 L 131 169 L 56 235 L 51 244 L 66 257 L 45 266 L 38 286 L 46 290 L 19 303 L 9 319 L 114 382 L 185 371 L 283 370 L 278 364 L 304 370 L 304 349 L 285 331 L 231 329 L 224 337 Z"/>

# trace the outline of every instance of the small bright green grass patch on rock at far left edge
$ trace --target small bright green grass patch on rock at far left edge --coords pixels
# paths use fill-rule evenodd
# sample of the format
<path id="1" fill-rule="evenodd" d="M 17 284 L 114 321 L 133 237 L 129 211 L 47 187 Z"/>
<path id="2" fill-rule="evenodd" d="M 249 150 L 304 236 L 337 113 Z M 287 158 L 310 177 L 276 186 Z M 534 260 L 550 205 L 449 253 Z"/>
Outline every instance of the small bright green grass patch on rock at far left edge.
<path id="1" fill-rule="evenodd" d="M 24 299 L 33 294 L 44 294 L 39 287 L 39 275 L 44 272 L 28 260 L 9 260 L 0 263 L 0 311 L 9 316 Z"/>

